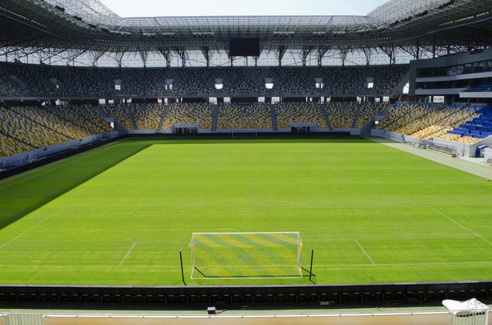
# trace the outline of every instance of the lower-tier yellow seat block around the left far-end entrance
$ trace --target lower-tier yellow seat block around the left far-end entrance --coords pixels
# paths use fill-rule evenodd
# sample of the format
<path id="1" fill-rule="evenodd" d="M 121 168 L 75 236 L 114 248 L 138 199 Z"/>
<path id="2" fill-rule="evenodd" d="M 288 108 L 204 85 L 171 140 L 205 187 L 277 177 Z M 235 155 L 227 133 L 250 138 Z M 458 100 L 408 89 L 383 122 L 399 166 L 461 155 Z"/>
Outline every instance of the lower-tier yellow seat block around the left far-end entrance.
<path id="1" fill-rule="evenodd" d="M 200 128 L 211 129 L 212 105 L 205 102 L 172 103 L 162 128 L 170 130 L 174 124 L 199 124 Z"/>

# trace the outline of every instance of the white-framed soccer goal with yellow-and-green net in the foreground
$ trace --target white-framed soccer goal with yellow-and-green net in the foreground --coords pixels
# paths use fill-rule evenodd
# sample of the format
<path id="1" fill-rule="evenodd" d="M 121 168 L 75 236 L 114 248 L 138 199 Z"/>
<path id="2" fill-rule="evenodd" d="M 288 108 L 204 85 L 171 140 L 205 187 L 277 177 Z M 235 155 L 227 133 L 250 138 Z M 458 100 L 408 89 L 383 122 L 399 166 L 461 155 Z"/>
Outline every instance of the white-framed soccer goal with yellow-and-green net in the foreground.
<path id="1" fill-rule="evenodd" d="M 299 232 L 195 232 L 191 279 L 302 277 Z"/>

